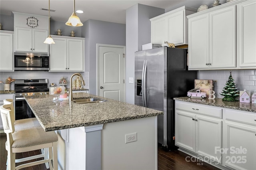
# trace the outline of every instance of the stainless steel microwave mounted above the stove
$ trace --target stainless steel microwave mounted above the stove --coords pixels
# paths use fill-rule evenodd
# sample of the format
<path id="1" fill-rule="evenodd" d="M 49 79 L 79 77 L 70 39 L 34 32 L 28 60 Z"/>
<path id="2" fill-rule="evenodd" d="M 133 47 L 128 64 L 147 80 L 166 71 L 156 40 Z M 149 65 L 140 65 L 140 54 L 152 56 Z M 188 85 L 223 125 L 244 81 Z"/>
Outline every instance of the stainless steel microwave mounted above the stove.
<path id="1" fill-rule="evenodd" d="M 14 70 L 48 71 L 48 54 L 39 53 L 14 53 Z"/>

